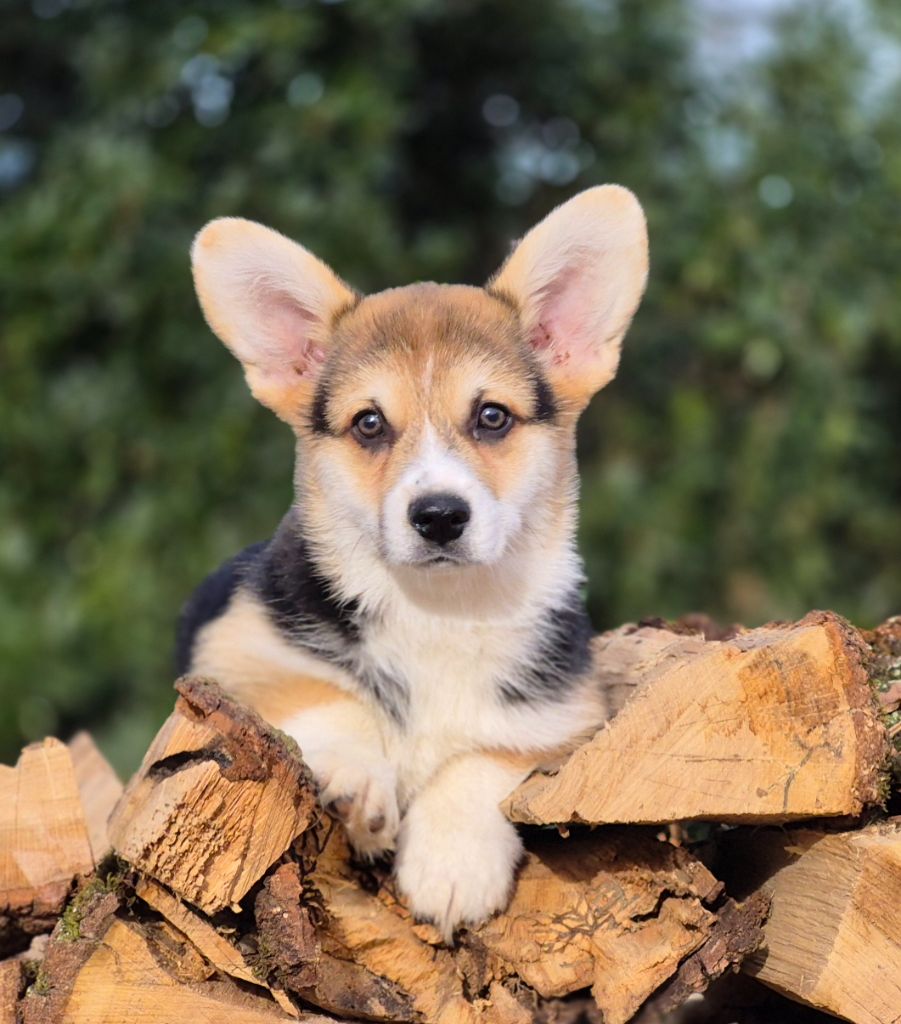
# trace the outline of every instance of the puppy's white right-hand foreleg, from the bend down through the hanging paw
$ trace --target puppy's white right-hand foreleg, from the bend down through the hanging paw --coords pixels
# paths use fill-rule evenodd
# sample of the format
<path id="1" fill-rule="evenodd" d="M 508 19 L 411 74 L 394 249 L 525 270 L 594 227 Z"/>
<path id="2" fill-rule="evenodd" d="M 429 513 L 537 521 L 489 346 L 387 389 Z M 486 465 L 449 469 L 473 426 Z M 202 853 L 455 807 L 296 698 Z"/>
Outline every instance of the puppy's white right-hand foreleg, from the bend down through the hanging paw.
<path id="1" fill-rule="evenodd" d="M 443 765 L 400 826 L 397 882 L 419 918 L 454 929 L 503 909 L 522 855 L 501 801 L 537 763 L 503 753 L 467 754 Z"/>

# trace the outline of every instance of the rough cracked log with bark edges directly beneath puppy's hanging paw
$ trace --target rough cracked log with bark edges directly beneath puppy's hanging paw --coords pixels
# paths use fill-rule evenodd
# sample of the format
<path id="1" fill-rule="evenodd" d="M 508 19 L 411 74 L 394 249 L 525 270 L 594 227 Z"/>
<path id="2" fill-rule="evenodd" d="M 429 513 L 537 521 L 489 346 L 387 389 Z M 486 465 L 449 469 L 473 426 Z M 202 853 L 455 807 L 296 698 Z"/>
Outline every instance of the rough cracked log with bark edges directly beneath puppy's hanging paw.
<path id="1" fill-rule="evenodd" d="M 324 950 L 392 986 L 381 1014 L 373 1004 L 344 1013 L 436 1024 L 527 1024 L 546 1000 L 585 988 L 605 1024 L 624 1024 L 705 942 L 722 891 L 689 853 L 645 830 L 537 835 L 507 910 L 447 949 L 411 920 L 390 880 L 356 881 L 340 836 L 311 881 L 328 914 Z"/>

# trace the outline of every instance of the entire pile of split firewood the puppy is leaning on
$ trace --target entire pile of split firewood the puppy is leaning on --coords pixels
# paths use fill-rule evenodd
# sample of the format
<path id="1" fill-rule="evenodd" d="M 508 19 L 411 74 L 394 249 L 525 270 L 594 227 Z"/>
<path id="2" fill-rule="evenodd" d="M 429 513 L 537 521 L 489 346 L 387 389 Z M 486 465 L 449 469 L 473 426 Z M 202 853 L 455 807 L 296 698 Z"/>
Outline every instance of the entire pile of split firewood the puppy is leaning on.
<path id="1" fill-rule="evenodd" d="M 124 792 L 87 736 L 27 748 L 0 768 L 0 1024 L 897 1024 L 901 621 L 596 645 L 609 721 L 508 798 L 512 901 L 454 945 L 213 681 L 178 681 Z"/>

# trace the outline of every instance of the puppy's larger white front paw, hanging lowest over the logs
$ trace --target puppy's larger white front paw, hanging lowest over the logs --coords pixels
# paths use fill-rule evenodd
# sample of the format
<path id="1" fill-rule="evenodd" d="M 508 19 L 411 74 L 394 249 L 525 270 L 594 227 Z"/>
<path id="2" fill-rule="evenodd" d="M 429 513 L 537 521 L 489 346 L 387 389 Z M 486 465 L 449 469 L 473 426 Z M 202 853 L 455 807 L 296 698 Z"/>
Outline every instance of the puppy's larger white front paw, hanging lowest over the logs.
<path id="1" fill-rule="evenodd" d="M 444 940 L 477 925 L 510 899 L 522 843 L 495 807 L 472 819 L 448 820 L 446 809 L 414 802 L 398 841 L 397 884 L 417 918 L 432 921 Z"/>

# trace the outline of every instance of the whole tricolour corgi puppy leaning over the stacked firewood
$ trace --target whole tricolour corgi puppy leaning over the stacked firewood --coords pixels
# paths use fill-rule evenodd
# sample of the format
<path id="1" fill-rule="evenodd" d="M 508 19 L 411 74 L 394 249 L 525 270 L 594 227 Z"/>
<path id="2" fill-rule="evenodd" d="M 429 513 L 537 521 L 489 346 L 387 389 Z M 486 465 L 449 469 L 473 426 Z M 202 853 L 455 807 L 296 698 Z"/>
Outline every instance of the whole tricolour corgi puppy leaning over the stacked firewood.
<path id="1" fill-rule="evenodd" d="M 192 248 L 212 330 L 294 431 L 294 503 L 179 628 L 297 740 L 364 857 L 445 937 L 502 909 L 499 804 L 602 722 L 575 548 L 575 424 L 616 372 L 647 276 L 615 185 L 554 210 L 485 285 L 363 296 L 247 220 Z"/>

